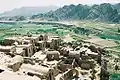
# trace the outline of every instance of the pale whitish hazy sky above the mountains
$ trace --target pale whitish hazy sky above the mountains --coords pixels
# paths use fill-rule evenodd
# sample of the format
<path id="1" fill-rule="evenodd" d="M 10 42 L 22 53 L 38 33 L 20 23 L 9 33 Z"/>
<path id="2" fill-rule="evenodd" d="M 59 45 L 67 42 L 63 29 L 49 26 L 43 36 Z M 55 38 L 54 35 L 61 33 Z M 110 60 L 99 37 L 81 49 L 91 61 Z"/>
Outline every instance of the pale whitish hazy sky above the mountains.
<path id="1" fill-rule="evenodd" d="M 120 0 L 0 0 L 0 13 L 23 6 L 119 3 Z"/>

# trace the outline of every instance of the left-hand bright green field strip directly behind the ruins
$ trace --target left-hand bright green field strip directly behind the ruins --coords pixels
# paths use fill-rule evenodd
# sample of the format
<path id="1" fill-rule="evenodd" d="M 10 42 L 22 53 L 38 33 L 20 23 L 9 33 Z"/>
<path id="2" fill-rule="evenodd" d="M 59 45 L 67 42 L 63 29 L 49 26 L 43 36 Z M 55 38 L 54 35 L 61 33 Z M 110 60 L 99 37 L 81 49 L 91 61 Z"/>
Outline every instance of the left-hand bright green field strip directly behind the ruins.
<path id="1" fill-rule="evenodd" d="M 42 25 L 42 24 L 0 24 L 0 40 L 10 36 L 20 36 L 27 34 L 54 34 L 64 36 L 70 33 L 70 30 L 63 26 Z"/>

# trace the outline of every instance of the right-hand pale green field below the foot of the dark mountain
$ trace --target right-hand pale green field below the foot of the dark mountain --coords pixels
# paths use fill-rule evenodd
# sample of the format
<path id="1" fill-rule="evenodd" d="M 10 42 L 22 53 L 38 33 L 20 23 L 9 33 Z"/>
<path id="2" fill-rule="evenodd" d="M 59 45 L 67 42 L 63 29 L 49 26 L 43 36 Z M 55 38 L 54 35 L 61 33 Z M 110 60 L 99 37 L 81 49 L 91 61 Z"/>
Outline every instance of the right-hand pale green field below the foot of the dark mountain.
<path id="1" fill-rule="evenodd" d="M 105 22 L 98 21 L 90 21 L 90 20 L 82 20 L 75 22 L 77 26 L 84 31 L 84 34 L 98 36 L 103 39 L 111 39 L 114 41 L 120 40 L 120 33 L 118 32 L 118 28 L 120 28 L 120 24 L 109 24 Z M 80 30 L 78 30 L 80 32 Z"/>

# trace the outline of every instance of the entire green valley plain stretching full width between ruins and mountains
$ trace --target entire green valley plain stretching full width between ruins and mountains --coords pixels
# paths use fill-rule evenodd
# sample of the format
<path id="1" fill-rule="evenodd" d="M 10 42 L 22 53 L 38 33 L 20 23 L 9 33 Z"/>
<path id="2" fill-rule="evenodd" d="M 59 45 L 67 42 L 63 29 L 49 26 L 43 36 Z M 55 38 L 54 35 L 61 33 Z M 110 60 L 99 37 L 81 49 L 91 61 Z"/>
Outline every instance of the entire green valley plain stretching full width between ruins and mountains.
<path id="1" fill-rule="evenodd" d="M 66 28 L 58 25 L 42 24 L 0 24 L 0 40 L 9 36 L 51 33 L 58 36 L 64 36 L 68 33 L 77 35 L 83 39 L 89 36 L 97 36 L 103 39 L 110 39 L 117 43 L 120 41 L 120 24 L 110 24 L 98 21 L 73 21 L 77 27 Z"/>

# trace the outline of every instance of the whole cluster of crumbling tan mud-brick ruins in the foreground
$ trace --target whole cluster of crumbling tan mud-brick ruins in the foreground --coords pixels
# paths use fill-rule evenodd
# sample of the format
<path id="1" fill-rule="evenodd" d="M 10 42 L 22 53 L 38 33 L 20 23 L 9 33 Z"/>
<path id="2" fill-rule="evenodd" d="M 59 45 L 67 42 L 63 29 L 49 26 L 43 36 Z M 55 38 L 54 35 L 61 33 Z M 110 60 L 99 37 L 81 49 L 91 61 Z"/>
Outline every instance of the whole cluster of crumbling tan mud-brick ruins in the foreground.
<path id="1" fill-rule="evenodd" d="M 0 80 L 100 80 L 100 62 L 100 48 L 90 43 L 9 37 L 0 46 Z"/>

